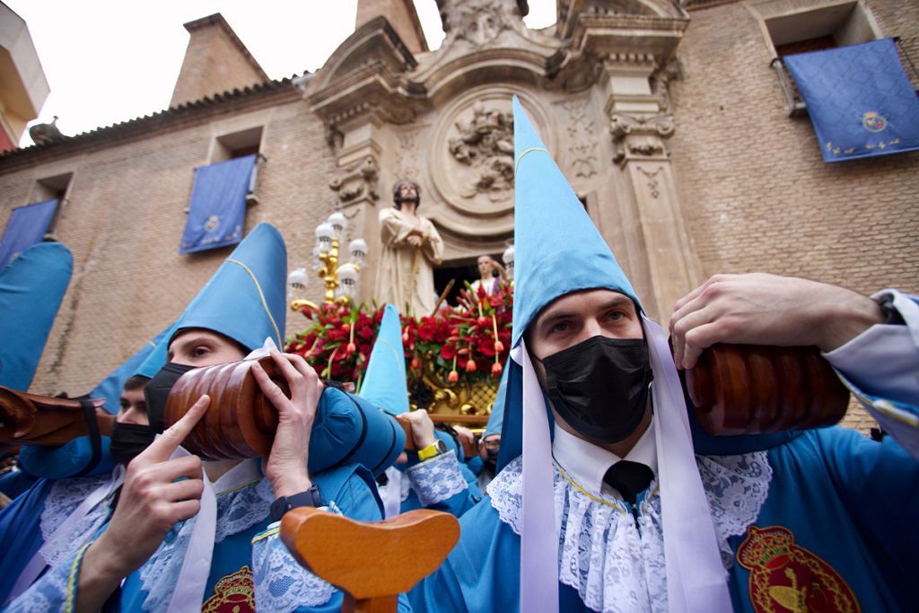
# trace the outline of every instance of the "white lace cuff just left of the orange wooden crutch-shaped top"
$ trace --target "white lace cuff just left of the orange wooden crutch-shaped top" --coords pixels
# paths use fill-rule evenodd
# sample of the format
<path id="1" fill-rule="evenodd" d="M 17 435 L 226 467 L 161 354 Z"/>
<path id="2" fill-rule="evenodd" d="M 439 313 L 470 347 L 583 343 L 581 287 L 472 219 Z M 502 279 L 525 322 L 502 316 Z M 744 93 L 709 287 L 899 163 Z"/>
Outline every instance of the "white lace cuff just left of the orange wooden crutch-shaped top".
<path id="1" fill-rule="evenodd" d="M 255 609 L 293 611 L 297 607 L 321 607 L 335 588 L 303 568 L 278 536 L 268 529 L 252 539 Z"/>

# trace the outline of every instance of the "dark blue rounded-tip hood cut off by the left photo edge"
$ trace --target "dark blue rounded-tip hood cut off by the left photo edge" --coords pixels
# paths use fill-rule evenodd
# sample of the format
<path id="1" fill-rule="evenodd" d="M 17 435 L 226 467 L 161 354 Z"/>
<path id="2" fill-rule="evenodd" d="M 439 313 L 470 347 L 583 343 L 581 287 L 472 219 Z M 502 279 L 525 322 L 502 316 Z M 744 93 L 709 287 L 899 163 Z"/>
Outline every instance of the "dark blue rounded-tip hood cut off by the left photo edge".
<path id="1" fill-rule="evenodd" d="M 33 244 L 0 271 L 0 385 L 26 392 L 74 272 L 60 243 Z"/>

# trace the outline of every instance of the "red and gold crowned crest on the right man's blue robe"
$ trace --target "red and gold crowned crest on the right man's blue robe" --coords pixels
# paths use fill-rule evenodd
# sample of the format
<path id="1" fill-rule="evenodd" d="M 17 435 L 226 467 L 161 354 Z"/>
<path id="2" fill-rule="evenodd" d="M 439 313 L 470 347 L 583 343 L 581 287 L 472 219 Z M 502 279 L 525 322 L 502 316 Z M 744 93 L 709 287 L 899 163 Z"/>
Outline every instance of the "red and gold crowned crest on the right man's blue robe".
<path id="1" fill-rule="evenodd" d="M 737 562 L 750 571 L 756 613 L 858 613 L 856 596 L 820 556 L 795 544 L 788 528 L 747 530 Z"/>

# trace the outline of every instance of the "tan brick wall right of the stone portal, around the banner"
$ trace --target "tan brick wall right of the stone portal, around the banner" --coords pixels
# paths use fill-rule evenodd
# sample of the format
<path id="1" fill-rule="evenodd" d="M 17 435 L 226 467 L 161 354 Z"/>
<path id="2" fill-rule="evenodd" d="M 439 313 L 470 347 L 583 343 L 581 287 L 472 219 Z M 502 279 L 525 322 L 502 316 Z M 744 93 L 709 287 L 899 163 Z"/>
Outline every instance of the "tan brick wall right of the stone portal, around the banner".
<path id="1" fill-rule="evenodd" d="M 919 6 L 868 6 L 885 36 L 916 47 Z M 670 89 L 670 146 L 705 275 L 765 271 L 865 293 L 919 290 L 919 153 L 824 164 L 811 120 L 788 116 L 754 15 L 736 3 L 690 16 Z M 847 423 L 869 420 L 856 410 Z"/>

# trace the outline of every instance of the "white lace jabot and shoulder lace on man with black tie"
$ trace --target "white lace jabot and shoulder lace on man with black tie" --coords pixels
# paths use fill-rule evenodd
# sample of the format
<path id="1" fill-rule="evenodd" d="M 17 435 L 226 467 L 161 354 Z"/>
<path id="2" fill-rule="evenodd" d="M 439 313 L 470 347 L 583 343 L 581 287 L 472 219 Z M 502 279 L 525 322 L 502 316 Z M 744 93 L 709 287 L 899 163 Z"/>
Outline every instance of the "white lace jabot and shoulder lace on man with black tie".
<path id="1" fill-rule="evenodd" d="M 766 452 L 724 458 L 697 457 L 725 568 L 728 543 L 741 535 L 766 502 L 772 469 Z M 520 534 L 523 464 L 512 461 L 489 484 L 501 520 Z M 667 610 L 661 497 L 656 479 L 639 505 L 638 526 L 618 498 L 591 493 L 556 465 L 555 525 L 559 533 L 559 581 L 576 589 L 596 611 Z"/>

